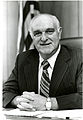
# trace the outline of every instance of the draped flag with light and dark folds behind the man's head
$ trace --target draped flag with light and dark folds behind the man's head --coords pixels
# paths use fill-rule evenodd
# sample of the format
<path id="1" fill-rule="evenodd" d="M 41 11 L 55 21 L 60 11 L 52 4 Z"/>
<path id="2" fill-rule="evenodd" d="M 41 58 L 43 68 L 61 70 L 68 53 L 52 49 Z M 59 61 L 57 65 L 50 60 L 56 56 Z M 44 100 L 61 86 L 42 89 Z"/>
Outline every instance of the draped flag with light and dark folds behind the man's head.
<path id="1" fill-rule="evenodd" d="M 19 1 L 19 23 L 17 53 L 33 48 L 32 38 L 28 32 L 31 19 L 39 14 L 38 1 Z"/>

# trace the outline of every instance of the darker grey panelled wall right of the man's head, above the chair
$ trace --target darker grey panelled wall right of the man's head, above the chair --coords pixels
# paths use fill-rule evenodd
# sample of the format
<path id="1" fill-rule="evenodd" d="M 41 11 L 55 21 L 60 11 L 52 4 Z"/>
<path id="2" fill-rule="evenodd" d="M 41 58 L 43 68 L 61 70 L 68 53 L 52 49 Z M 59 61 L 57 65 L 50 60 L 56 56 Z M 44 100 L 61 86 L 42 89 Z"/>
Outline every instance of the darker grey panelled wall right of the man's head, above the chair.
<path id="1" fill-rule="evenodd" d="M 40 2 L 40 11 L 56 15 L 63 27 L 62 38 L 79 37 L 82 35 L 81 2 L 78 1 L 46 1 Z"/>

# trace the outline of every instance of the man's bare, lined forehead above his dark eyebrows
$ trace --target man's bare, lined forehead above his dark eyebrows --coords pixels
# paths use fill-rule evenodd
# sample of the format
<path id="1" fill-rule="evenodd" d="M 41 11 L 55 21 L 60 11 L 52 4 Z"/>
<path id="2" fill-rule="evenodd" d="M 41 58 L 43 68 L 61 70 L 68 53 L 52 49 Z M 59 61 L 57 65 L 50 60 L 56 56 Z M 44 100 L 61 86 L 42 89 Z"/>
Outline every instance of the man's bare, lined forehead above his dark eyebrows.
<path id="1" fill-rule="evenodd" d="M 53 19 L 50 17 L 39 17 L 36 18 L 32 24 L 32 30 L 45 30 L 47 28 L 54 28 Z"/>

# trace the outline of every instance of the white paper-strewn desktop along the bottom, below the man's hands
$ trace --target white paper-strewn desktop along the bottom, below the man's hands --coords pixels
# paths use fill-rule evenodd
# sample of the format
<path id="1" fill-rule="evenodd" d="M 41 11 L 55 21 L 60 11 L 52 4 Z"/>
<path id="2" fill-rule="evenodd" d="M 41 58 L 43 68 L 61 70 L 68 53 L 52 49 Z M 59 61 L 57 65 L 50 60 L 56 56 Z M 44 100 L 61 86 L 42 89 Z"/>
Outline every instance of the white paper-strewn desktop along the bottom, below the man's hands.
<path id="1" fill-rule="evenodd" d="M 69 120 L 83 120 L 83 109 L 43 112 L 36 111 L 35 114 L 34 112 L 31 114 L 33 115 L 32 117 L 28 116 L 30 114 L 28 111 L 4 109 L 3 114 L 5 116 L 4 120 L 67 120 L 66 117 L 69 117 Z"/>

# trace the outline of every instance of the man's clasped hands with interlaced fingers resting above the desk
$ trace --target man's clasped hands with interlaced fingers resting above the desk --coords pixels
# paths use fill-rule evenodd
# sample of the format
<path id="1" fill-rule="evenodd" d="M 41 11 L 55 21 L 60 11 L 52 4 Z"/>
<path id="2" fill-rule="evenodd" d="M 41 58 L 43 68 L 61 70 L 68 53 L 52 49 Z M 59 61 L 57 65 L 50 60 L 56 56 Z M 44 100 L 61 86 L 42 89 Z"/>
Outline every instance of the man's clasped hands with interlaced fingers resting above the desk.
<path id="1" fill-rule="evenodd" d="M 34 92 L 23 92 L 15 98 L 17 107 L 21 110 L 45 110 L 46 98 Z"/>

